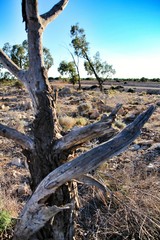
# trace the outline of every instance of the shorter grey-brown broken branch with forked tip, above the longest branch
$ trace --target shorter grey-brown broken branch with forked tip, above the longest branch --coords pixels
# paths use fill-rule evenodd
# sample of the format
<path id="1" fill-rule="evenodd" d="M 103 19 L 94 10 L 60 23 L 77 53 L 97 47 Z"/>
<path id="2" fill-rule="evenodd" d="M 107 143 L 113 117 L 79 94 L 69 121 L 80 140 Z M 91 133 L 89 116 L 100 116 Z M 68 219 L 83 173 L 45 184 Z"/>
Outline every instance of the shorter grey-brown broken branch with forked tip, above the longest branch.
<path id="1" fill-rule="evenodd" d="M 117 104 L 111 114 L 109 116 L 104 115 L 99 122 L 72 130 L 54 144 L 53 150 L 67 150 L 105 134 L 113 135 L 115 130 L 111 127 L 111 124 L 121 107 L 121 104 Z"/>

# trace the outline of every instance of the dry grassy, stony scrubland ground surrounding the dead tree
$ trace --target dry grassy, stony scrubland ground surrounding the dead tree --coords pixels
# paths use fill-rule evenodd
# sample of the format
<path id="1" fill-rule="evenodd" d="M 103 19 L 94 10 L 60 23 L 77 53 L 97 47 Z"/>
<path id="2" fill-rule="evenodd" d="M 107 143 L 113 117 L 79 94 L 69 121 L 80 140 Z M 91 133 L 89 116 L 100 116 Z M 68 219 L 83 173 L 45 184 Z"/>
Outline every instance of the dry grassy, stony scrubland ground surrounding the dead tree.
<path id="1" fill-rule="evenodd" d="M 20 106 L 22 103 L 20 101 L 24 99 L 24 95 L 22 95 L 22 98 L 15 98 L 15 96 L 21 96 L 19 95 L 21 92 L 14 88 L 4 90 L 5 97 L 9 100 L 3 103 L 9 107 L 7 111 L 2 109 L 3 116 L 1 120 L 11 127 L 23 131 L 26 122 L 32 120 L 32 113 L 29 109 L 25 110 L 24 106 L 23 109 L 19 107 L 14 109 L 14 105 Z M 110 90 L 108 94 L 102 94 L 98 91 L 90 93 L 75 91 L 72 92 L 71 96 L 59 97 L 58 99 L 57 110 L 60 124 L 64 130 L 68 131 L 75 125 L 84 126 L 89 123 L 89 119 L 79 117 L 78 113 L 78 104 L 85 102 L 86 99 L 95 108 L 97 108 L 97 103 L 101 100 L 110 107 L 122 103 L 124 106 L 115 122 L 118 129 L 124 127 L 123 119 L 127 115 L 137 114 L 146 109 L 148 105 L 160 101 L 159 96 L 153 95 L 150 97 L 145 93 L 120 93 Z M 72 104 L 70 104 L 71 100 Z M 156 112 L 142 130 L 141 137 L 136 140 L 137 144 L 148 140 L 153 143 L 160 142 L 159 116 L 160 108 L 157 107 Z M 17 156 L 17 153 L 18 157 L 22 156 L 19 155 L 19 148 L 12 142 L 3 139 L 1 145 L 3 154 L 1 155 L 0 166 L 4 172 L 0 172 L 2 187 L 0 190 L 0 210 L 5 209 L 11 213 L 11 216 L 16 218 L 22 204 L 20 202 L 21 197 L 13 196 L 15 187 L 12 186 L 16 186 L 17 181 L 20 182 L 21 178 L 13 178 L 13 170 L 16 171 L 17 176 L 17 172 L 20 171 L 22 173 L 21 177 L 28 173 L 24 169 L 17 170 L 6 167 L 9 162 L 8 158 L 11 160 L 13 156 Z M 81 149 L 78 150 L 81 152 Z M 95 176 L 110 189 L 105 196 L 95 188 L 79 185 L 81 207 L 78 211 L 76 240 L 159 240 L 159 175 L 157 172 L 148 174 L 146 171 L 147 163 L 145 157 L 143 157 L 146 151 L 147 147 L 141 151 L 127 150 L 127 152 L 110 159 L 107 164 L 97 169 Z M 5 159 L 7 160 L 5 161 Z M 149 159 L 149 161 L 152 162 L 153 159 Z"/>

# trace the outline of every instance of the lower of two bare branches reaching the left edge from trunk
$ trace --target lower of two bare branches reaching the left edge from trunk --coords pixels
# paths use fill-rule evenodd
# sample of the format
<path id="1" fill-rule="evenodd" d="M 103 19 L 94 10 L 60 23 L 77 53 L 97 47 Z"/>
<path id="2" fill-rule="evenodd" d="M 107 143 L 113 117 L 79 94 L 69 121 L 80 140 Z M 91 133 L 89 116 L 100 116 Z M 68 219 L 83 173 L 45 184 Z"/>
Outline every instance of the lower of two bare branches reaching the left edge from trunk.
<path id="1" fill-rule="evenodd" d="M 12 139 L 24 149 L 34 150 L 34 141 L 29 136 L 17 131 L 16 129 L 0 124 L 0 136 Z"/>

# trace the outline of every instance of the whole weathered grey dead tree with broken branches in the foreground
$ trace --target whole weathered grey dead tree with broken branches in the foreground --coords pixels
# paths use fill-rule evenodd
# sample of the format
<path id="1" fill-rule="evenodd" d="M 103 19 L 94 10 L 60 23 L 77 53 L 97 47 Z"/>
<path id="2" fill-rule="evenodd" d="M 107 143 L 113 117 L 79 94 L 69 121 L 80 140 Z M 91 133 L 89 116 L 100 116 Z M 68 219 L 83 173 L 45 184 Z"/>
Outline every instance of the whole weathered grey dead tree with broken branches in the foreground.
<path id="1" fill-rule="evenodd" d="M 12 139 L 22 147 L 32 179 L 33 195 L 17 222 L 14 240 L 73 239 L 72 181 L 95 185 L 105 191 L 105 186 L 88 175 L 88 172 L 124 151 L 140 134 L 140 129 L 154 111 L 154 107 L 150 106 L 116 137 L 67 162 L 73 149 L 86 141 L 113 132 L 112 122 L 121 107 L 118 105 L 108 118 L 61 135 L 56 101 L 51 95 L 44 68 L 42 33 L 68 2 L 69 0 L 61 0 L 51 10 L 39 15 L 38 0 L 23 0 L 23 20 L 26 22 L 29 44 L 28 70 L 20 69 L 0 50 L 0 62 L 25 85 L 34 112 L 30 136 L 0 124 L 0 135 Z"/>

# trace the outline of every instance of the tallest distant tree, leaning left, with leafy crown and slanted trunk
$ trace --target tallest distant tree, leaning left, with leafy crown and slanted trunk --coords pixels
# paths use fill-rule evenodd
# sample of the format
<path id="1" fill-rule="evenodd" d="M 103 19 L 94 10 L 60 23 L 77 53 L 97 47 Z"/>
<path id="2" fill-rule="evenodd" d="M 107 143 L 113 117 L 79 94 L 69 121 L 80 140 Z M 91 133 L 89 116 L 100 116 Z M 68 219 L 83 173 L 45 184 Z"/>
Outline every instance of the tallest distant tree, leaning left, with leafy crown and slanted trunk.
<path id="1" fill-rule="evenodd" d="M 94 76 L 96 77 L 98 83 L 99 83 L 99 88 L 102 91 L 103 90 L 103 79 L 99 76 L 99 67 L 95 68 L 96 63 L 91 60 L 89 57 L 89 43 L 86 40 L 86 34 L 83 28 L 80 28 L 78 23 L 76 25 L 71 26 L 71 46 L 74 48 L 74 53 L 77 57 L 84 58 L 88 63 L 86 65 L 86 69 L 89 72 L 92 72 Z M 97 56 L 98 57 L 98 56 Z M 95 60 L 97 62 L 97 65 L 100 63 L 100 59 Z M 103 63 L 104 65 L 104 63 Z M 105 67 L 107 65 L 105 64 Z M 97 71 L 98 70 L 98 71 Z M 105 68 L 103 69 L 105 70 Z M 107 69 L 105 70 L 105 72 Z"/>

